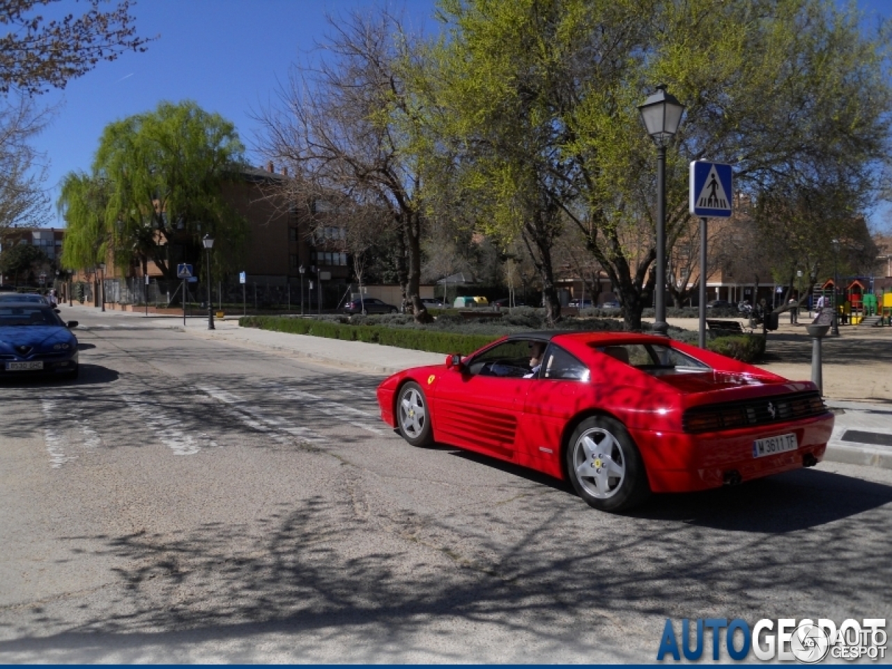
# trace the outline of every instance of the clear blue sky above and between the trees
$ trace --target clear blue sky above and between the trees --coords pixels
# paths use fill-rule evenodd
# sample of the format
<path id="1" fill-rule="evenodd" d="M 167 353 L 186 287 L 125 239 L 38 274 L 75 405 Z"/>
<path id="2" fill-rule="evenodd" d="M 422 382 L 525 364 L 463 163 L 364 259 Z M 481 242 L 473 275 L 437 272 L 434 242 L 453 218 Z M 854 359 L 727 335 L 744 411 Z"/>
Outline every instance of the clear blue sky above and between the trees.
<path id="1" fill-rule="evenodd" d="M 44 95 L 59 104 L 54 121 L 35 145 L 49 161 L 47 189 L 53 202 L 60 179 L 89 171 L 103 128 L 113 120 L 148 111 L 161 100 L 191 99 L 235 123 L 250 153 L 257 122 L 252 110 L 270 103 L 277 81 L 313 49 L 327 30 L 326 13 L 369 8 L 368 0 L 141 0 L 133 8 L 138 33 L 160 35 L 145 54 L 124 54 L 99 63 L 64 91 Z M 839 0 L 847 4 L 847 0 Z M 430 32 L 434 0 L 389 3 L 408 21 Z M 870 15 L 892 17 L 892 0 L 857 0 Z M 81 4 L 62 0 L 62 11 Z M 880 223 L 888 207 L 872 217 Z M 56 226 L 62 221 L 57 220 Z"/>

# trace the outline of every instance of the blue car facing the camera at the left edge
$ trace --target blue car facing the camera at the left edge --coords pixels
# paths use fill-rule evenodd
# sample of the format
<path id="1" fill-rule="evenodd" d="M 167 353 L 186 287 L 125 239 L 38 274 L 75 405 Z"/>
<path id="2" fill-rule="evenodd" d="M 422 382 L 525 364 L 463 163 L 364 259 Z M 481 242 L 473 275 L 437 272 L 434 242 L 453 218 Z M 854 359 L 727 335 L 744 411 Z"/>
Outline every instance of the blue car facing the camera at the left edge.
<path id="1" fill-rule="evenodd" d="M 78 377 L 78 340 L 47 305 L 0 302 L 0 378 L 53 375 Z"/>

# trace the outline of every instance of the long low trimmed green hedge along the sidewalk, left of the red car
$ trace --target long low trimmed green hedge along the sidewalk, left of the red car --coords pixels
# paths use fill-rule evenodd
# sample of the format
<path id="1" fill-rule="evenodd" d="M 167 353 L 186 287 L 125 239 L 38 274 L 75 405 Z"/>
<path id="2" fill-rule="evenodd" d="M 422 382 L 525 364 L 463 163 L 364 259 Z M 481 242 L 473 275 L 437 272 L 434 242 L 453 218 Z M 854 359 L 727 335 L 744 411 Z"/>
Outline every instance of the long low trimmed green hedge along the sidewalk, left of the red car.
<path id="1" fill-rule="evenodd" d="M 500 335 L 458 335 L 451 332 L 434 332 L 415 328 L 385 326 L 351 326 L 313 318 L 287 316 L 245 316 L 238 319 L 242 327 L 286 332 L 292 335 L 312 335 L 347 342 L 380 343 L 401 349 L 429 351 L 431 353 L 473 353 L 486 344 L 499 339 Z"/>

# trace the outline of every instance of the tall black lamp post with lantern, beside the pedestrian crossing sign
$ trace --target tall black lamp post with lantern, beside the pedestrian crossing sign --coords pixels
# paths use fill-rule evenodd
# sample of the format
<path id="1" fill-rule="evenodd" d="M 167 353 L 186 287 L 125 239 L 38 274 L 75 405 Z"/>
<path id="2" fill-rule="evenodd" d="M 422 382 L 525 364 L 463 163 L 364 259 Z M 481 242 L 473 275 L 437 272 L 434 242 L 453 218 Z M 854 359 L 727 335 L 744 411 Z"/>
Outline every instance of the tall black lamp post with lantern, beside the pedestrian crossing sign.
<path id="1" fill-rule="evenodd" d="M 666 194 L 665 169 L 666 146 L 672 141 L 681 125 L 681 114 L 684 105 L 673 95 L 666 93 L 664 84 L 657 86 L 657 92 L 648 97 L 638 107 L 641 120 L 648 135 L 657 145 L 657 280 L 654 286 L 657 318 L 654 322 L 654 334 L 667 336 L 669 325 L 666 323 L 665 285 L 666 285 Z M 705 280 L 705 279 L 704 279 Z"/>

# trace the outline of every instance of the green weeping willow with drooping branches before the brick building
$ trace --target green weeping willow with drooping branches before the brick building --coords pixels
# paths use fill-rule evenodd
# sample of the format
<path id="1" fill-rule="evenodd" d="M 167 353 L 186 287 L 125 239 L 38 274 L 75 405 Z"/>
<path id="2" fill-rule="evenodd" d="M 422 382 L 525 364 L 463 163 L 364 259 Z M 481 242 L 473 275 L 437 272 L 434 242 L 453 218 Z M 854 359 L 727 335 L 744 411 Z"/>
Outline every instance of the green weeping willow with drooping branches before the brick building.
<path id="1" fill-rule="evenodd" d="M 92 173 L 63 181 L 63 264 L 92 267 L 111 252 L 123 270 L 138 263 L 145 271 L 152 261 L 175 280 L 179 262 L 203 267 L 200 240 L 210 234 L 219 277 L 235 266 L 247 237 L 247 221 L 223 194 L 243 154 L 235 126 L 192 102 L 161 103 L 106 126 Z"/>

